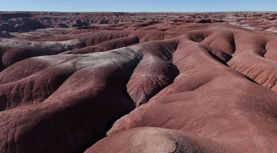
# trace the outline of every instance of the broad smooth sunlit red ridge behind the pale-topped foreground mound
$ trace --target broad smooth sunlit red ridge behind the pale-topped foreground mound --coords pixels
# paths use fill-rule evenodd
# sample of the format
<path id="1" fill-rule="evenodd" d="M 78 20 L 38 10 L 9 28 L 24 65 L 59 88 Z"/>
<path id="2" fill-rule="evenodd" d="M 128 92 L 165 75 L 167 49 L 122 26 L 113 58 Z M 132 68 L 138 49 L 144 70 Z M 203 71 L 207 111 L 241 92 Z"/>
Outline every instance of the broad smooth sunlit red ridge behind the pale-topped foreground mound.
<path id="1" fill-rule="evenodd" d="M 274 124 L 268 127 L 268 124 L 261 122 L 264 122 L 264 118 L 271 118 L 272 123 L 276 122 L 273 113 L 277 108 L 274 96 L 276 92 L 253 83 L 247 76 L 216 60 L 209 52 L 206 46 L 200 43 L 190 40 L 180 42 L 173 56 L 173 63 L 180 71 L 174 83 L 156 94 L 148 103 L 116 121 L 107 132 L 108 136 L 95 145 L 107 143 L 109 139 L 113 139 L 114 134 L 123 134 L 136 127 L 193 132 L 224 145 L 236 146 L 238 152 L 251 152 L 243 146 L 239 147 L 239 144 L 245 143 L 244 139 L 249 140 L 248 137 L 253 135 L 259 137 L 259 129 L 267 129 L 266 133 L 275 135 Z M 251 88 L 251 92 L 255 94 L 246 94 L 244 90 L 250 90 L 249 87 L 255 87 L 255 91 Z M 270 102 L 265 100 L 261 91 L 271 92 L 273 99 Z M 235 93 L 231 95 L 232 98 L 227 96 L 230 93 Z M 261 106 L 265 106 L 263 112 L 255 110 Z M 237 111 L 240 113 L 236 114 Z M 253 111 L 257 113 L 255 121 L 251 119 L 253 114 L 249 115 Z M 251 126 L 252 124 L 255 126 Z M 217 128 L 218 126 L 221 128 Z M 243 136 L 238 129 L 244 131 Z M 215 131 L 219 135 L 214 135 Z M 230 140 L 230 137 L 233 139 Z M 270 139 L 276 141 L 274 137 Z M 225 141 L 225 138 L 230 141 Z M 259 137 L 262 138 L 263 136 Z M 254 147 L 259 144 L 254 140 L 248 145 Z M 264 150 L 270 146 L 272 147 L 272 144 L 264 144 L 259 148 Z"/>

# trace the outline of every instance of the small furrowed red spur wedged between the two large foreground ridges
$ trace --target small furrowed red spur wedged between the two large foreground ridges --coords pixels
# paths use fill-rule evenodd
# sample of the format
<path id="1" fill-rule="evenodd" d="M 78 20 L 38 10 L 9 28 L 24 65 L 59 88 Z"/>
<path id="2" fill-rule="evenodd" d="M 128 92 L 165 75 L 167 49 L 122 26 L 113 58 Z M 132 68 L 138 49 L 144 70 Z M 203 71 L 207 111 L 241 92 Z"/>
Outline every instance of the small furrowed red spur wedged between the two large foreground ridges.
<path id="1" fill-rule="evenodd" d="M 127 84 L 127 91 L 137 107 L 147 103 L 159 91 L 172 84 L 179 75 L 179 70 L 172 63 L 172 55 L 177 46 L 176 40 L 164 40 L 130 47 L 139 48 L 143 54 L 143 59 L 134 69 Z"/>

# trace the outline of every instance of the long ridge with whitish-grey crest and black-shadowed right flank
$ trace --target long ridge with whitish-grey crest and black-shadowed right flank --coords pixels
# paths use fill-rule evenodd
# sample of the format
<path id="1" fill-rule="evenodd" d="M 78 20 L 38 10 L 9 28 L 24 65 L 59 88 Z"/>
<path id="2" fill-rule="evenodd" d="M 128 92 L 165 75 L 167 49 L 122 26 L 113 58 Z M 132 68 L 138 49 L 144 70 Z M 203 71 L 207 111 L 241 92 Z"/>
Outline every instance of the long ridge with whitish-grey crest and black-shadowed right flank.
<path id="1" fill-rule="evenodd" d="M 73 152 L 95 142 L 112 121 L 134 109 L 126 84 L 139 58 L 131 50 L 114 50 L 63 63 L 78 71 L 48 99 L 0 113 L 1 152 Z"/>

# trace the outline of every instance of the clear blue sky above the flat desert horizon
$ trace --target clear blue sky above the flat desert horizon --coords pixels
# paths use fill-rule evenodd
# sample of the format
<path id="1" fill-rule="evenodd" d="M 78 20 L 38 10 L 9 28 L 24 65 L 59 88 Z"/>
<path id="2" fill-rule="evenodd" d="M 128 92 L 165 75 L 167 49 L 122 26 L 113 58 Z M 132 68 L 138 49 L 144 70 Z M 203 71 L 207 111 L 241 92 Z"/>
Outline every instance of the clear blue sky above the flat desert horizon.
<path id="1" fill-rule="evenodd" d="M 0 0 L 0 11 L 220 12 L 277 11 L 277 0 Z"/>

